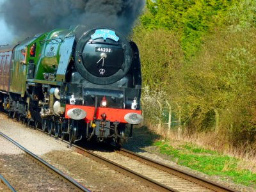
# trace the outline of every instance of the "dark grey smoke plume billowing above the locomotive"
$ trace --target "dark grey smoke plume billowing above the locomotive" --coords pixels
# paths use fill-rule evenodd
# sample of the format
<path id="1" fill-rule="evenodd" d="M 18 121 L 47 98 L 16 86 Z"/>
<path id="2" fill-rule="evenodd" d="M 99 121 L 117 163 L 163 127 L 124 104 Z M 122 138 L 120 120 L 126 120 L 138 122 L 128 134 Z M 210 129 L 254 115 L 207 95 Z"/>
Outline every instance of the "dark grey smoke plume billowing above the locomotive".
<path id="1" fill-rule="evenodd" d="M 144 0 L 6 0 L 0 12 L 13 34 L 22 37 L 74 25 L 108 26 L 128 35 L 144 4 Z"/>

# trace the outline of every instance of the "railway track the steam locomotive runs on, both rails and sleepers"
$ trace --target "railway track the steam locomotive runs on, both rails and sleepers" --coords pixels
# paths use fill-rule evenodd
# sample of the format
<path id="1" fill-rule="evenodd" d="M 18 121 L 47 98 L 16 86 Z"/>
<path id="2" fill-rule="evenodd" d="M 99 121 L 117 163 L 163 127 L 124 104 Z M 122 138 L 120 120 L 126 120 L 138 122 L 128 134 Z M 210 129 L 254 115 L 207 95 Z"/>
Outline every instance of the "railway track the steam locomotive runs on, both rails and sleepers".
<path id="1" fill-rule="evenodd" d="M 69 145 L 68 141 L 63 142 Z M 117 149 L 112 146 L 105 151 L 82 148 L 77 145 L 72 145 L 71 148 L 79 154 L 160 191 L 237 191 L 184 170 L 158 163 L 124 148 Z"/>

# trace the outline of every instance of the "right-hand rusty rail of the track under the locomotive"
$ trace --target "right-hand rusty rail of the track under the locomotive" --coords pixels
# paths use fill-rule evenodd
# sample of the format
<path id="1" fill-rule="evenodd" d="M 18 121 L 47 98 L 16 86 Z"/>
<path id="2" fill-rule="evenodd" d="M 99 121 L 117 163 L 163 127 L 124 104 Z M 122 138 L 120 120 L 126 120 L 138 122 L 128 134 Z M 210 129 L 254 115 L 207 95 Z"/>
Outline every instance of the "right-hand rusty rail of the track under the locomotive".
<path id="1" fill-rule="evenodd" d="M 113 147 L 113 146 L 112 146 Z M 115 147 L 113 147 L 115 149 Z M 212 189 L 213 191 L 221 191 L 221 192 L 227 192 L 227 191 L 233 191 L 233 192 L 239 192 L 236 189 L 229 188 L 227 186 L 223 186 L 222 184 L 219 184 L 217 182 L 212 182 L 209 179 L 205 179 L 203 177 L 199 177 L 195 174 L 186 172 L 184 170 L 181 170 L 179 168 L 175 168 L 174 166 L 170 166 L 167 164 L 159 163 L 157 161 L 154 161 L 152 159 L 149 159 L 148 157 L 141 156 L 140 154 L 135 154 L 134 152 L 131 152 L 129 150 L 126 150 L 124 148 L 120 148 L 116 150 L 119 154 L 122 154 L 124 156 L 130 157 L 132 159 L 136 159 L 137 161 L 140 161 L 141 163 L 148 164 L 150 166 L 153 166 L 154 168 L 157 168 L 159 170 L 163 170 L 164 172 L 171 173 L 173 175 L 177 175 L 178 177 L 181 177 L 183 179 L 189 180 L 191 182 L 194 182 L 196 184 L 199 184 L 200 186 L 204 186 L 205 188 Z"/>

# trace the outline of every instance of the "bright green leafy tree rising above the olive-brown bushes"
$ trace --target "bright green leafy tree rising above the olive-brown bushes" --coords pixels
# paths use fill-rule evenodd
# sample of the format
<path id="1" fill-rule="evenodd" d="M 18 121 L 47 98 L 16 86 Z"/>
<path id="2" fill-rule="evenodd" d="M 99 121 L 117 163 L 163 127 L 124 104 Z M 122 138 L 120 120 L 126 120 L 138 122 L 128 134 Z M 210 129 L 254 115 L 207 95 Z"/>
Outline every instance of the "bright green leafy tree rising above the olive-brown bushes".
<path id="1" fill-rule="evenodd" d="M 141 24 L 147 29 L 167 29 L 180 33 L 180 42 L 186 58 L 200 48 L 202 38 L 225 15 L 229 0 L 147 0 L 147 11 Z"/>

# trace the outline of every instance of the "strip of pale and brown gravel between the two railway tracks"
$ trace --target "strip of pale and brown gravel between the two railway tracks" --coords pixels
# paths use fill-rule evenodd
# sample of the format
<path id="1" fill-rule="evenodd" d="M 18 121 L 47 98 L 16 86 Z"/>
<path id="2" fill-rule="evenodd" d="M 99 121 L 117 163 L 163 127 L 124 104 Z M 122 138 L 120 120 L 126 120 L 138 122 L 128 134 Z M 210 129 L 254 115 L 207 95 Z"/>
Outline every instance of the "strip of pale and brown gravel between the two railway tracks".
<path id="1" fill-rule="evenodd" d="M 3 114 L 0 114 L 0 131 L 92 191 L 156 191 Z"/>

